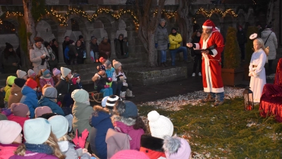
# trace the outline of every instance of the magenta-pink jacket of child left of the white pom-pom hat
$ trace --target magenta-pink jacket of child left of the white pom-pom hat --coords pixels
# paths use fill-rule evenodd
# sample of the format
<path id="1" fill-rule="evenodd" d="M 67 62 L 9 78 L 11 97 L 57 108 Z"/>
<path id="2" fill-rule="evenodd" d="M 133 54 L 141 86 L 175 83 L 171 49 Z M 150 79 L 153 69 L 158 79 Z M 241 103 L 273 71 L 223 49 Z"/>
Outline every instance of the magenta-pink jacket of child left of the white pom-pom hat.
<path id="1" fill-rule="evenodd" d="M 132 126 L 127 126 L 123 122 L 114 122 L 116 131 L 128 134 L 132 140 L 130 140 L 130 150 L 140 150 L 140 141 L 142 134 L 145 134 L 143 129 L 133 129 Z"/>

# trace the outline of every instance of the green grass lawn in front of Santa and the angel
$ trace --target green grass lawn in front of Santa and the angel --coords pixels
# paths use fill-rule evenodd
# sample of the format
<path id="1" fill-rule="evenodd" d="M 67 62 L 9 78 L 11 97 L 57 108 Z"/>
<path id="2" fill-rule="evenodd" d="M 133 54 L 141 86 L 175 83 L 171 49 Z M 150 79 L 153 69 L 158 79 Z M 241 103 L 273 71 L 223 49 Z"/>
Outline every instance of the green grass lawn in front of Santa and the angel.
<path id="1" fill-rule="evenodd" d="M 206 158 L 282 158 L 282 123 L 274 117 L 262 118 L 259 105 L 243 110 L 243 98 L 226 100 L 219 107 L 185 105 L 181 110 L 168 111 L 153 106 L 138 107 L 140 115 L 157 110 L 169 117 L 174 133 L 187 139 L 193 153 Z"/>

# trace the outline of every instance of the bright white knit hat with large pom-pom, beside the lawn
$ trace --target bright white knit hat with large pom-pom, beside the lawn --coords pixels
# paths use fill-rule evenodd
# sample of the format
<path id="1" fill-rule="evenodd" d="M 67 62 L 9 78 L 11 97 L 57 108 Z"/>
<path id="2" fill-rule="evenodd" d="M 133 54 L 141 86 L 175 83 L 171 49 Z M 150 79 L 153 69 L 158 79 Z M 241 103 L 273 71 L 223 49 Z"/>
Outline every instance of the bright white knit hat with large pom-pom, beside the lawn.
<path id="1" fill-rule="evenodd" d="M 153 110 L 148 113 L 148 120 L 152 136 L 160 139 L 164 139 L 166 135 L 172 136 L 173 124 L 170 119 Z"/>

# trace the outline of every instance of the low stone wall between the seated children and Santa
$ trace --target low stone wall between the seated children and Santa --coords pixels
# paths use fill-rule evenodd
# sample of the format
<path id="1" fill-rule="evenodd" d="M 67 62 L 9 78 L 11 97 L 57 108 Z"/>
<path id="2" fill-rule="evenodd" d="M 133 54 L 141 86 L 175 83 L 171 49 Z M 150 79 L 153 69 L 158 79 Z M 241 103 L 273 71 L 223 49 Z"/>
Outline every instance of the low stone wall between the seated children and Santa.
<path id="1" fill-rule="evenodd" d="M 134 85 L 151 86 L 169 81 L 178 81 L 187 78 L 187 67 L 175 67 L 170 69 L 154 70 L 154 71 L 130 71 L 126 72 L 128 80 Z"/>

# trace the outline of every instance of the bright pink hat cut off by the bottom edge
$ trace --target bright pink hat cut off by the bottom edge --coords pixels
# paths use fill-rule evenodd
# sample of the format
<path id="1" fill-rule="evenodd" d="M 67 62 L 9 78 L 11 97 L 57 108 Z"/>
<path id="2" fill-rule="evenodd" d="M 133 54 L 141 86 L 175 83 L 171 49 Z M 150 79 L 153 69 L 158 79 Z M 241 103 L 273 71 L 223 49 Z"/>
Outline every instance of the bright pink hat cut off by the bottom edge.
<path id="1" fill-rule="evenodd" d="M 118 151 L 118 153 L 114 154 L 111 159 L 149 159 L 149 157 L 142 152 L 135 151 L 135 150 L 124 150 Z"/>

